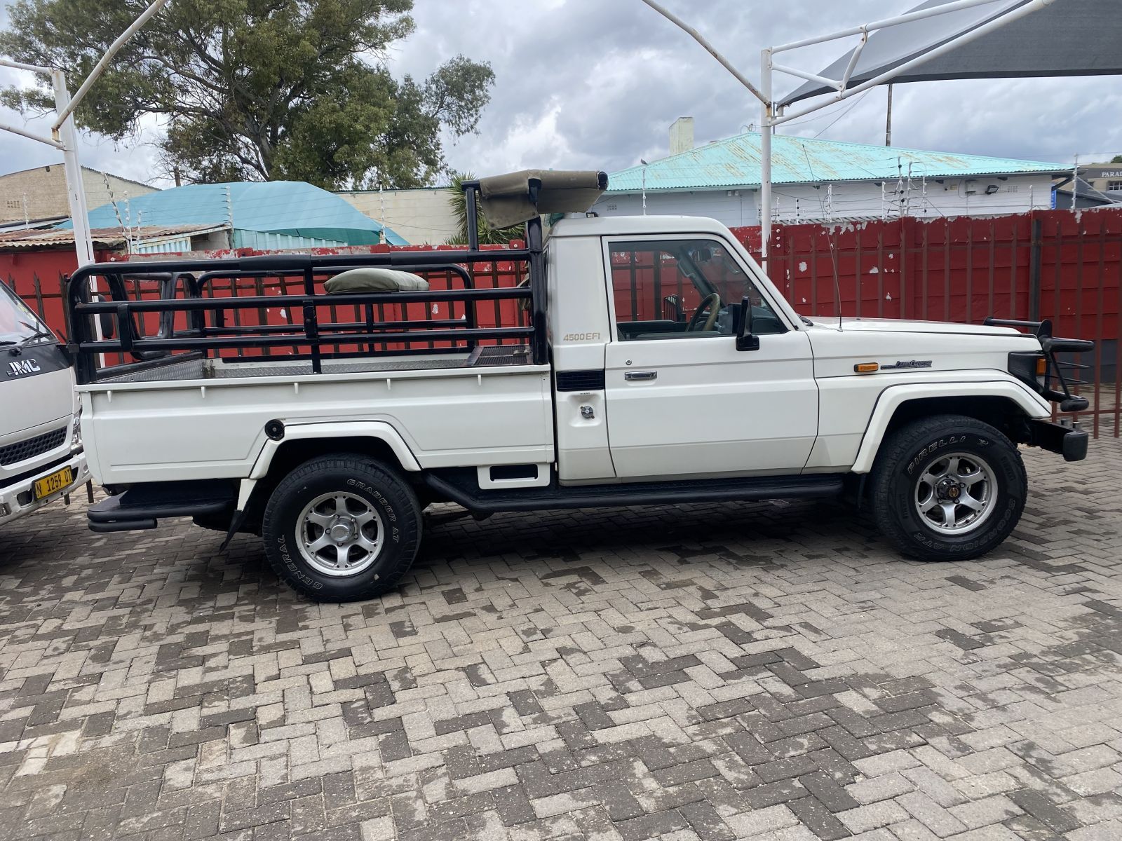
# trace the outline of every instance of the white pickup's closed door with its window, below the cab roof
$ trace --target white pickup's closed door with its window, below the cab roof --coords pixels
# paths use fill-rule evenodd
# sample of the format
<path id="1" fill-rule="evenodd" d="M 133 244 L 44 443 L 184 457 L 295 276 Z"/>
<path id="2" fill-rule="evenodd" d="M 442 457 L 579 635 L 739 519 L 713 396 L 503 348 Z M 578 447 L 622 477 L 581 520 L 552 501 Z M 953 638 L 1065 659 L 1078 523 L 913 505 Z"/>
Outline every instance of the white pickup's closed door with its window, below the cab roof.
<path id="1" fill-rule="evenodd" d="M 810 342 L 717 239 L 608 238 L 608 441 L 620 479 L 798 473 L 818 432 Z M 737 351 L 748 296 L 760 348 Z"/>

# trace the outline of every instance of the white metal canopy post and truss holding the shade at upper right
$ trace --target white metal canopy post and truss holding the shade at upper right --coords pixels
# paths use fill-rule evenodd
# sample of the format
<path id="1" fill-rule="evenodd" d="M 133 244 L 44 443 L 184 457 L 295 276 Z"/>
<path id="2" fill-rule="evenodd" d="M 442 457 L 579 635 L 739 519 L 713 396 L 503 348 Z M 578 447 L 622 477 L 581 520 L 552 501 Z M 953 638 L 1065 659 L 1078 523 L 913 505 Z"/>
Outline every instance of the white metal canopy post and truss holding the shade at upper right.
<path id="1" fill-rule="evenodd" d="M 849 85 L 849 77 L 853 74 L 854 67 L 857 65 L 857 59 L 861 57 L 861 52 L 864 49 L 865 44 L 868 41 L 868 36 L 879 29 L 888 29 L 890 27 L 900 26 L 901 24 L 909 24 L 914 20 L 922 20 L 925 18 L 934 18 L 940 15 L 946 15 L 948 12 L 959 11 L 962 9 L 968 9 L 975 6 L 985 6 L 987 3 L 993 3 L 994 0 L 955 0 L 955 2 L 947 2 L 941 6 L 935 6 L 928 9 L 919 9 L 904 15 L 898 15 L 892 18 L 884 18 L 883 20 L 874 20 L 870 24 L 864 24 L 862 26 L 849 27 L 848 29 L 842 29 L 836 33 L 830 33 L 828 35 L 820 35 L 813 38 L 803 38 L 802 40 L 791 41 L 790 44 L 781 44 L 774 47 L 765 47 L 760 53 L 760 73 L 761 73 L 761 90 L 763 96 L 761 98 L 761 140 L 760 140 L 760 151 L 761 151 L 761 178 L 760 178 L 760 238 L 761 238 L 761 258 L 762 262 L 766 267 L 767 265 L 767 250 L 769 242 L 771 240 L 771 214 L 772 214 L 772 167 L 771 167 L 771 147 L 772 147 L 772 132 L 776 126 L 782 126 L 785 122 L 795 120 L 800 117 L 806 117 L 815 111 L 820 111 L 824 108 L 833 105 L 842 100 L 855 96 L 858 93 L 863 93 L 871 87 L 874 87 L 886 82 L 891 82 L 896 76 L 908 73 L 913 67 L 918 67 L 925 62 L 929 62 L 940 55 L 949 53 L 964 44 L 968 44 L 972 40 L 984 37 L 990 33 L 1006 26 L 1014 20 L 1031 15 L 1034 11 L 1039 11 L 1054 2 L 1059 2 L 1060 0 L 1029 0 L 1021 6 L 1014 7 L 1012 9 L 1006 9 L 1005 11 L 996 15 L 991 20 L 986 21 L 982 26 L 975 27 L 962 35 L 951 38 L 942 44 L 931 47 L 923 53 L 919 54 L 914 58 L 907 62 L 898 64 L 883 73 L 877 74 L 873 78 L 866 80 L 861 84 Z M 849 57 L 849 62 L 846 65 L 845 73 L 842 78 L 826 78 L 816 73 L 810 73 L 807 71 L 799 70 L 787 64 L 776 64 L 774 56 L 778 53 L 787 53 L 793 49 L 799 49 L 800 47 L 808 47 L 813 44 L 826 44 L 833 40 L 839 40 L 842 38 L 849 38 L 853 36 L 861 36 L 861 41 L 854 48 L 853 55 Z M 817 102 L 812 102 L 808 105 L 801 107 L 793 111 L 787 111 L 785 109 L 778 110 L 775 108 L 775 94 L 773 90 L 773 74 L 784 73 L 790 76 L 795 76 L 798 78 L 809 80 L 811 82 L 818 82 L 822 85 L 827 85 L 837 90 L 837 93 L 831 94 L 825 99 L 819 99 Z"/>

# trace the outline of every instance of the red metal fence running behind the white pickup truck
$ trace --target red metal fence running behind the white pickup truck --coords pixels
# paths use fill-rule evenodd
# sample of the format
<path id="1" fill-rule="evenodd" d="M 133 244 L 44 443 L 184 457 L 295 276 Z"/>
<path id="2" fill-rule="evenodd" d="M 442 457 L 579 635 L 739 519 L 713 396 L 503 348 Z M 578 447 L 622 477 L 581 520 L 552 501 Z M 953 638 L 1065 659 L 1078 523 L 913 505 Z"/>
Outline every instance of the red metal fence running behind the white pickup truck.
<path id="1" fill-rule="evenodd" d="M 758 257 L 757 228 L 734 233 Z M 522 279 L 513 269 L 502 260 L 479 267 L 477 286 L 513 286 Z M 1084 419 L 1092 422 L 1096 435 L 1120 434 L 1122 210 L 778 225 L 769 274 L 807 315 L 840 311 L 846 316 L 959 323 L 977 323 L 987 315 L 1051 318 L 1057 335 L 1095 340 L 1094 353 L 1084 354 L 1093 358 L 1076 360 L 1089 366 L 1082 391 L 1092 406 Z M 54 330 L 64 331 L 61 274 L 40 277 L 17 270 L 9 271 L 7 280 Z M 433 288 L 442 288 L 439 277 L 433 280 Z M 256 283 L 215 294 L 257 294 Z M 260 283 L 266 294 L 282 292 L 278 279 Z M 494 313 L 480 312 L 480 326 L 507 326 L 524 318 L 513 302 L 504 302 L 504 307 L 496 304 Z"/>

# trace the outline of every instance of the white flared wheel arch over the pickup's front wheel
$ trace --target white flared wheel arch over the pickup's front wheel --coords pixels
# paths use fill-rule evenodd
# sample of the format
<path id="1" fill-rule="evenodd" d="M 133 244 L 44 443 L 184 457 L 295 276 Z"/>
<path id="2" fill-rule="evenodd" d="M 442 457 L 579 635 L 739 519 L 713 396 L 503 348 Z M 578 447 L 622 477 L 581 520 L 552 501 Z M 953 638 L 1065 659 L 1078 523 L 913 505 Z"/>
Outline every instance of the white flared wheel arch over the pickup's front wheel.
<path id="1" fill-rule="evenodd" d="M 931 415 L 964 415 L 1001 429 L 1014 442 L 1026 441 L 1021 423 L 1030 417 L 1048 417 L 1051 407 L 1015 382 L 903 385 L 885 389 L 870 418 L 854 461 L 854 473 L 873 469 L 881 444 L 907 423 Z"/>

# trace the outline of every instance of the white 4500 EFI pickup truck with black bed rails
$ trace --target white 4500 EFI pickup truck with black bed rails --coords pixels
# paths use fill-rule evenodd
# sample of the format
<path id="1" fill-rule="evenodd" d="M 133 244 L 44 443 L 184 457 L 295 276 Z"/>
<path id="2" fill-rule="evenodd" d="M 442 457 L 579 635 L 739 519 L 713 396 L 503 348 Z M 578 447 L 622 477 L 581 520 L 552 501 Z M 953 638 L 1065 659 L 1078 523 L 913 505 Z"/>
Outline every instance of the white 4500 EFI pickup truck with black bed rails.
<path id="1" fill-rule="evenodd" d="M 1048 322 L 807 318 L 712 220 L 586 216 L 606 184 L 536 170 L 466 184 L 469 213 L 478 194 L 493 225 L 526 223 L 525 247 L 502 253 L 76 272 L 85 444 L 112 495 L 91 528 L 191 516 L 228 539 L 256 533 L 277 574 L 324 601 L 396 586 L 435 501 L 484 517 L 848 496 L 902 553 L 953 561 L 1017 525 L 1018 444 L 1085 458 L 1087 434 L 1050 418 L 1054 403 L 1086 408 L 1056 354 L 1089 342 Z M 568 215 L 546 243 L 550 212 Z M 496 259 L 522 283 L 473 288 Z M 165 272 L 160 292 L 138 295 L 137 272 Z M 436 276 L 465 288 L 430 288 Z M 479 326 L 500 306 L 521 323 Z"/>

